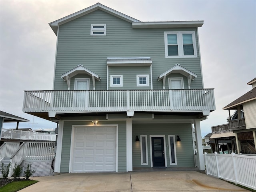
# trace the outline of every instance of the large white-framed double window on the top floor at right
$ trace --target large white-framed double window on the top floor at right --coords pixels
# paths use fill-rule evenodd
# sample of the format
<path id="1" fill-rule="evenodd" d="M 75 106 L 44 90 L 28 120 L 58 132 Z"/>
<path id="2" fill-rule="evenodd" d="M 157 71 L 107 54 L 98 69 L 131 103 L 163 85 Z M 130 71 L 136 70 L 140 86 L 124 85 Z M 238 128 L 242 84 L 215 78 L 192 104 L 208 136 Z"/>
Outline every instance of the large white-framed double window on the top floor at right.
<path id="1" fill-rule="evenodd" d="M 197 57 L 195 32 L 164 32 L 165 58 Z"/>

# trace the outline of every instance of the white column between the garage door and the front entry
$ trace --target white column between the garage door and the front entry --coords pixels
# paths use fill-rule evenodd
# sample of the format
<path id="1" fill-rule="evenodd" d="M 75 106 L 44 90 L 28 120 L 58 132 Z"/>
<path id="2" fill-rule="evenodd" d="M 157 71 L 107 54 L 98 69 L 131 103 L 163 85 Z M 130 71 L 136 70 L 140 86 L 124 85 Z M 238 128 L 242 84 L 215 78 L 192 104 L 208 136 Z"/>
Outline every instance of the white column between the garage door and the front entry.
<path id="1" fill-rule="evenodd" d="M 132 171 L 132 119 L 126 119 L 126 171 Z"/>

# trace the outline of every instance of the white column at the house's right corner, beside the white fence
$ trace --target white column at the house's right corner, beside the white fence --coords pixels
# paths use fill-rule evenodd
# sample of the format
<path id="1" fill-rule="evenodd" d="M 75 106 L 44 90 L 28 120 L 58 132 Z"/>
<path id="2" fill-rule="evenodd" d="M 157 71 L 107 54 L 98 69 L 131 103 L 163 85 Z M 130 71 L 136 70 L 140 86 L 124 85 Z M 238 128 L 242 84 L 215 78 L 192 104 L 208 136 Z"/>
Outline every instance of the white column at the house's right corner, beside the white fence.
<path id="1" fill-rule="evenodd" d="M 194 120 L 195 133 L 196 133 L 196 150 L 198 156 L 198 169 L 204 171 L 204 152 L 203 152 L 203 144 L 202 144 L 202 136 L 201 136 L 201 128 L 200 121 Z"/>

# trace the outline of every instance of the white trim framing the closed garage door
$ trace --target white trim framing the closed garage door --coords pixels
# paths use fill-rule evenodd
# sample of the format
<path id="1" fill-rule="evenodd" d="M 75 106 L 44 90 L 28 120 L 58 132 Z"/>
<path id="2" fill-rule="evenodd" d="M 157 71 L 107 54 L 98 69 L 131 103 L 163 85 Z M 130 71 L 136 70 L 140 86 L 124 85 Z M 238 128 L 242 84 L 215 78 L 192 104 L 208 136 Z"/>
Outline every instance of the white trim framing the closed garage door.
<path id="1" fill-rule="evenodd" d="M 116 172 L 118 172 L 118 125 L 117 124 L 105 124 L 105 125 L 72 125 L 71 128 L 71 140 L 70 140 L 70 157 L 69 157 L 69 168 L 68 172 L 72 172 L 72 160 L 73 160 L 73 147 L 74 147 L 74 128 L 77 127 L 92 127 L 92 126 L 98 126 L 98 127 L 116 127 Z"/>

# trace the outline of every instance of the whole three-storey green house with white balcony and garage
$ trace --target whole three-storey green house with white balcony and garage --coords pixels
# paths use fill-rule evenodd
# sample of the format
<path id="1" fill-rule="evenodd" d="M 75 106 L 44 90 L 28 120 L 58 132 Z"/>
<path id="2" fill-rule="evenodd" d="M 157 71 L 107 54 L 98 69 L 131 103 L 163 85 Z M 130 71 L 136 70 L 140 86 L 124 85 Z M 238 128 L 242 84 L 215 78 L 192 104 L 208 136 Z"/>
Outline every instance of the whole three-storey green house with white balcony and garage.
<path id="1" fill-rule="evenodd" d="M 204 170 L 203 21 L 140 22 L 100 3 L 50 23 L 54 90 L 25 91 L 23 111 L 58 122 L 55 172 Z"/>

